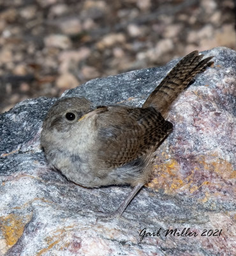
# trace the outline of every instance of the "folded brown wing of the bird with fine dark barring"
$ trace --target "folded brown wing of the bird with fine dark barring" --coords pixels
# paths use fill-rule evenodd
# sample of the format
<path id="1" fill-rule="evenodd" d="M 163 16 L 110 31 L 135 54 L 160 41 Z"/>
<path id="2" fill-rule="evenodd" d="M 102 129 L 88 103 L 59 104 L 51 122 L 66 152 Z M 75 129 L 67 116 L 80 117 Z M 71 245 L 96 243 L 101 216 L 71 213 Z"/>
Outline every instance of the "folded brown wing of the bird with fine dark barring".
<path id="1" fill-rule="evenodd" d="M 155 150 L 172 131 L 172 123 L 154 108 L 108 106 L 98 114 L 96 125 L 96 154 L 107 168 L 122 166 Z"/>

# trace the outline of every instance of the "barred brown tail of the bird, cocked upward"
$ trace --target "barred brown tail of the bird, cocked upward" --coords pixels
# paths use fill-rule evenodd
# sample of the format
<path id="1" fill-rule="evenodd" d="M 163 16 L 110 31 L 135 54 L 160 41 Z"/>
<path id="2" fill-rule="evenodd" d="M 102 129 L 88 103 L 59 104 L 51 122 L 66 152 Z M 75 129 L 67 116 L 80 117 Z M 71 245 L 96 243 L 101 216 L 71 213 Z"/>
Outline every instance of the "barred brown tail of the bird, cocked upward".
<path id="1" fill-rule="evenodd" d="M 153 107 L 165 118 L 170 107 L 179 93 L 181 93 L 205 67 L 212 64 L 213 56 L 203 59 L 198 51 L 193 51 L 182 58 L 167 74 L 156 89 L 149 95 L 142 108 Z"/>

